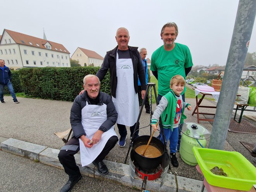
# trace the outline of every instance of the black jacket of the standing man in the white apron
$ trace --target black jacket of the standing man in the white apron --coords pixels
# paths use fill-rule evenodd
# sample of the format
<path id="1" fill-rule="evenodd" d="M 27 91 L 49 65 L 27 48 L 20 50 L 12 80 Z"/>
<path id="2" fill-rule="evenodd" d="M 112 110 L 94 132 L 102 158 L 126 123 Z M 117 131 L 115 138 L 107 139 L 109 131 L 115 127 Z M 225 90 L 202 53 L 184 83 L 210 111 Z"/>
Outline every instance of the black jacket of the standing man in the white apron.
<path id="1" fill-rule="evenodd" d="M 116 76 L 116 52 L 118 46 L 111 51 L 108 51 L 104 57 L 101 68 L 97 72 L 96 76 L 99 77 L 100 81 L 105 77 L 107 70 L 110 72 L 110 87 L 111 95 L 116 98 L 116 86 L 117 86 L 117 76 Z M 138 47 L 128 46 L 131 55 L 131 61 L 133 64 L 133 82 L 135 92 L 138 93 L 138 77 L 140 79 L 142 90 L 146 90 L 145 82 L 145 72 L 142 66 L 141 57 L 138 52 Z"/>

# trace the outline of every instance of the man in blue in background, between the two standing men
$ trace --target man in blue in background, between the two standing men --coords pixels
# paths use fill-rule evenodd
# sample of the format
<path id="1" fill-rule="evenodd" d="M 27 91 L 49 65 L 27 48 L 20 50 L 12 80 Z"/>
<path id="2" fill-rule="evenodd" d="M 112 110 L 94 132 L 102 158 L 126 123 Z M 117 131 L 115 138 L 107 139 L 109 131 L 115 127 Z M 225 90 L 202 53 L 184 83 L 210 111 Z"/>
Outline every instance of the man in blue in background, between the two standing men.
<path id="1" fill-rule="evenodd" d="M 140 51 L 140 57 L 142 59 L 142 65 L 143 65 L 143 69 L 145 72 L 145 78 L 146 78 L 146 85 L 147 85 L 147 79 L 148 79 L 148 74 L 147 74 L 147 60 L 145 59 L 147 56 L 147 49 L 145 48 L 141 48 Z M 140 80 L 138 79 L 138 93 L 141 92 L 141 86 L 140 86 Z M 149 105 L 149 96 L 146 94 L 146 100 L 145 100 L 145 109 L 146 109 L 146 113 L 150 113 L 150 105 Z M 151 111 L 151 113 L 153 114 L 153 111 Z"/>

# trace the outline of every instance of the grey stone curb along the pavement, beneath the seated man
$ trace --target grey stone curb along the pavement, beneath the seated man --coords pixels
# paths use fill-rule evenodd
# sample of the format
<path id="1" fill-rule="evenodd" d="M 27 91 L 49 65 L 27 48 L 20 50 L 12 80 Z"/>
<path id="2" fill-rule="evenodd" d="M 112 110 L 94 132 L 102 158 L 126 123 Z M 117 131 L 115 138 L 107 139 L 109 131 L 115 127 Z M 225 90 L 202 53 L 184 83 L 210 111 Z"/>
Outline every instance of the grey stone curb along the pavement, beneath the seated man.
<path id="1" fill-rule="evenodd" d="M 34 161 L 39 161 L 40 163 L 47 164 L 50 166 L 55 166 L 57 168 L 63 169 L 61 163 L 58 159 L 59 150 L 50 147 L 45 147 L 42 145 L 32 144 L 29 142 L 24 142 L 14 138 L 3 138 L 0 137 L 1 149 L 22 157 L 27 157 Z M 129 165 L 116 163 L 112 161 L 104 160 L 107 167 L 109 168 L 109 173 L 107 175 L 100 175 L 97 172 L 97 168 L 93 164 L 88 166 L 81 166 L 80 154 L 75 155 L 76 163 L 78 164 L 81 174 L 101 178 L 105 180 L 111 180 L 114 182 L 121 183 L 129 187 L 137 187 L 141 189 L 142 179 L 135 176 L 133 182 L 130 180 Z M 176 176 L 172 174 L 167 174 L 166 182 L 160 188 L 161 179 L 156 179 L 152 181 L 147 181 L 147 190 L 150 191 L 179 191 L 179 192 L 200 192 L 202 188 L 202 181 L 194 180 L 182 176 Z M 206 189 L 204 190 L 206 192 Z"/>

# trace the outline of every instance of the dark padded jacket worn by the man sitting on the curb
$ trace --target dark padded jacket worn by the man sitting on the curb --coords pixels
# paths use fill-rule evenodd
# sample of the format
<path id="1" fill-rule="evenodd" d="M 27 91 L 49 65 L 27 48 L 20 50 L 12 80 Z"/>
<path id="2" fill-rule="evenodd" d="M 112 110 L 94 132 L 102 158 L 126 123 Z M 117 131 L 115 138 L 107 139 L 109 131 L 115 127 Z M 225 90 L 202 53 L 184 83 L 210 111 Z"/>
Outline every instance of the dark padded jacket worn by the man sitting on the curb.
<path id="1" fill-rule="evenodd" d="M 111 96 L 106 93 L 99 92 L 97 105 L 107 105 L 107 119 L 102 123 L 99 127 L 99 130 L 106 132 L 113 125 L 115 125 L 116 120 L 118 118 L 118 113 L 116 112 L 116 108 L 114 103 L 112 102 Z M 83 129 L 83 125 L 81 122 L 81 111 L 83 107 L 86 106 L 86 101 L 89 105 L 91 105 L 90 99 L 87 97 L 87 92 L 83 92 L 83 94 L 76 96 L 73 102 L 73 106 L 70 111 L 70 124 L 73 130 L 73 136 L 76 138 L 80 138 L 82 135 L 85 135 L 85 130 Z"/>

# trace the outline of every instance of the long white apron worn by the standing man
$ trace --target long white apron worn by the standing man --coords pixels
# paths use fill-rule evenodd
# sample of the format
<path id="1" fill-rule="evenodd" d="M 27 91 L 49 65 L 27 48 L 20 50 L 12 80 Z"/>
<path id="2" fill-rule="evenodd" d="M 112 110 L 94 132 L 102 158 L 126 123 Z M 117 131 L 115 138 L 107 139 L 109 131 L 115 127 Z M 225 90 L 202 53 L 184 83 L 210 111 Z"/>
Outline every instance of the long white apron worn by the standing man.
<path id="1" fill-rule="evenodd" d="M 139 102 L 138 94 L 135 93 L 133 83 L 133 65 L 131 59 L 118 59 L 116 53 L 116 98 L 112 97 L 118 119 L 116 123 L 133 126 L 138 119 Z"/>

